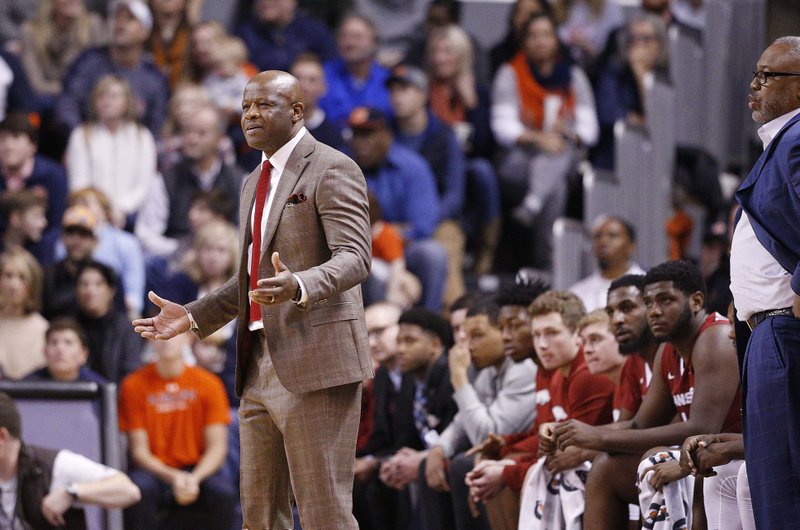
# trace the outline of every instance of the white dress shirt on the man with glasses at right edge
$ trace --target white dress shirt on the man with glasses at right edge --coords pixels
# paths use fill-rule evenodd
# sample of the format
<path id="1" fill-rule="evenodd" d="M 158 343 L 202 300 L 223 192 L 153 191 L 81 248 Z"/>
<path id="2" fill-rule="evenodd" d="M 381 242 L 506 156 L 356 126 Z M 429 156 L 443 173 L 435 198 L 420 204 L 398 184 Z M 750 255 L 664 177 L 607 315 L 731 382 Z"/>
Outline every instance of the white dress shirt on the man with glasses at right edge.
<path id="1" fill-rule="evenodd" d="M 758 129 L 764 149 L 798 113 L 800 109 L 793 110 Z M 794 302 L 791 280 L 791 273 L 756 238 L 750 219 L 743 211 L 733 231 L 731 244 L 731 293 L 736 305 L 736 318 L 744 322 L 761 311 L 791 307 Z"/>

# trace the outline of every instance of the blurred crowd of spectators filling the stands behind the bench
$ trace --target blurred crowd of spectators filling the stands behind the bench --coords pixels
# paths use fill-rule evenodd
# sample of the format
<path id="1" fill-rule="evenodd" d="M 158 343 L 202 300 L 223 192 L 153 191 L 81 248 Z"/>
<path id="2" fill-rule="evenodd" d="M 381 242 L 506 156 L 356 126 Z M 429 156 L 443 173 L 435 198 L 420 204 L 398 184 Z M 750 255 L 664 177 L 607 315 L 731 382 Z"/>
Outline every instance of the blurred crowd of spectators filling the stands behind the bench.
<path id="1" fill-rule="evenodd" d="M 365 306 L 441 312 L 465 293 L 541 280 L 570 287 L 591 311 L 612 280 L 689 258 L 708 307 L 725 314 L 731 196 L 760 150 L 754 127 L 738 131 L 735 156 L 678 135 L 669 171 L 655 175 L 666 195 L 616 182 L 663 219 L 587 206 L 588 181 L 622 173 L 622 130 L 657 142 L 665 122 L 650 113 L 653 87 L 680 99 L 687 70 L 700 88 L 711 78 L 675 61 L 680 46 L 711 55 L 720 2 L 517 0 L 487 3 L 493 16 L 480 20 L 475 4 L 3 2 L 3 377 L 119 384 L 164 355 L 130 326 L 155 311 L 149 290 L 186 303 L 235 273 L 239 192 L 261 159 L 241 132 L 241 94 L 269 69 L 298 78 L 306 127 L 365 174 L 374 258 Z M 746 64 L 768 17 L 770 31 L 800 33 L 786 27 L 800 20 L 786 16 L 790 4 L 731 2 L 734 17 L 757 14 Z M 737 90 L 730 101 L 745 113 L 747 82 Z M 678 127 L 696 118 L 680 108 L 668 109 Z M 554 230 L 563 219 L 581 232 L 566 252 Z M 657 255 L 637 254 L 637 234 L 654 232 Z M 570 256 L 584 266 L 564 284 Z M 83 347 L 46 338 L 52 326 L 74 328 Z M 180 344 L 182 362 L 220 378 L 226 406 L 237 403 L 234 331 Z M 229 481 L 235 455 L 220 460 Z"/>

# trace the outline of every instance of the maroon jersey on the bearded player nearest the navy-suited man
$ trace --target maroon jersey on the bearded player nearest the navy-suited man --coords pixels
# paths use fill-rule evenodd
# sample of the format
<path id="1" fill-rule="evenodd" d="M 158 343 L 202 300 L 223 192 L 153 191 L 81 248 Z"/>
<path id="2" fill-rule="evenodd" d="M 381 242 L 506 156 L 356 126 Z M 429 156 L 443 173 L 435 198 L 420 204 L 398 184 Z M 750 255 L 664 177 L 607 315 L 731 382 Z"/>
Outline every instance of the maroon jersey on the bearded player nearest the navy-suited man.
<path id="1" fill-rule="evenodd" d="M 710 327 L 721 324 L 730 324 L 730 322 L 719 313 L 711 313 L 703 321 L 703 325 L 700 326 L 697 337 Z M 695 337 L 695 342 L 697 337 Z M 667 346 L 670 345 L 668 344 Z M 694 398 L 694 369 L 692 368 L 691 359 L 685 362 L 672 347 L 669 347 L 669 349 L 664 348 L 661 354 L 661 377 L 664 378 L 669 387 L 669 392 L 672 394 L 675 410 L 677 410 L 683 421 L 688 420 L 692 399 Z M 741 387 L 736 389 L 736 396 L 731 403 L 720 432 L 742 432 L 740 404 Z"/>

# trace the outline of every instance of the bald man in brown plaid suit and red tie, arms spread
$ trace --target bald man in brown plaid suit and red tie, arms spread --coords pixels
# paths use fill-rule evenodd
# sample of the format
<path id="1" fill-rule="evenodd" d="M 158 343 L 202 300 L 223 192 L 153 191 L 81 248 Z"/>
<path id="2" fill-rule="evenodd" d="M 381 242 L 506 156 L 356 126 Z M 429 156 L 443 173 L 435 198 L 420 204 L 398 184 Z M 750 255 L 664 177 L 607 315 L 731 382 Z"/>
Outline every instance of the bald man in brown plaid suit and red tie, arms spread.
<path id="1" fill-rule="evenodd" d="M 242 99 L 265 162 L 245 180 L 238 272 L 202 299 L 134 321 L 145 338 L 205 338 L 238 317 L 244 528 L 358 528 L 352 514 L 361 382 L 372 360 L 359 284 L 369 273 L 367 187 L 358 166 L 304 126 L 297 79 L 271 70 Z"/>

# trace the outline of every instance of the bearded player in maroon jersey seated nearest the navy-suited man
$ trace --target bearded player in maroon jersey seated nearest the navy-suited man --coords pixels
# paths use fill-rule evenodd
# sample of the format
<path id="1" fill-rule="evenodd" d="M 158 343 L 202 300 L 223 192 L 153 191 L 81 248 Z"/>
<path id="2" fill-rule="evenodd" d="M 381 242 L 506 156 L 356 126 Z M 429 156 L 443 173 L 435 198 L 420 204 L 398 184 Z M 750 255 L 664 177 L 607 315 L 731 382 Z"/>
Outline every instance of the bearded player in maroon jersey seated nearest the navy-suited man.
<path id="1" fill-rule="evenodd" d="M 593 467 L 614 470 L 615 481 L 587 484 L 585 528 L 625 528 L 626 504 L 638 503 L 631 478 L 650 449 L 683 443 L 711 430 L 739 432 L 739 373 L 736 352 L 728 339 L 730 324 L 705 310 L 700 270 L 687 261 L 668 261 L 645 276 L 642 300 L 647 322 L 657 340 L 667 342 L 656 353 L 653 378 L 642 406 L 616 428 L 591 427 L 575 420 L 553 430 L 556 447 L 603 451 Z M 624 336 L 624 333 L 621 334 Z M 679 421 L 673 419 L 679 417 Z M 658 466 L 655 487 L 685 476 L 677 460 Z M 596 478 L 596 477 L 595 477 Z"/>

